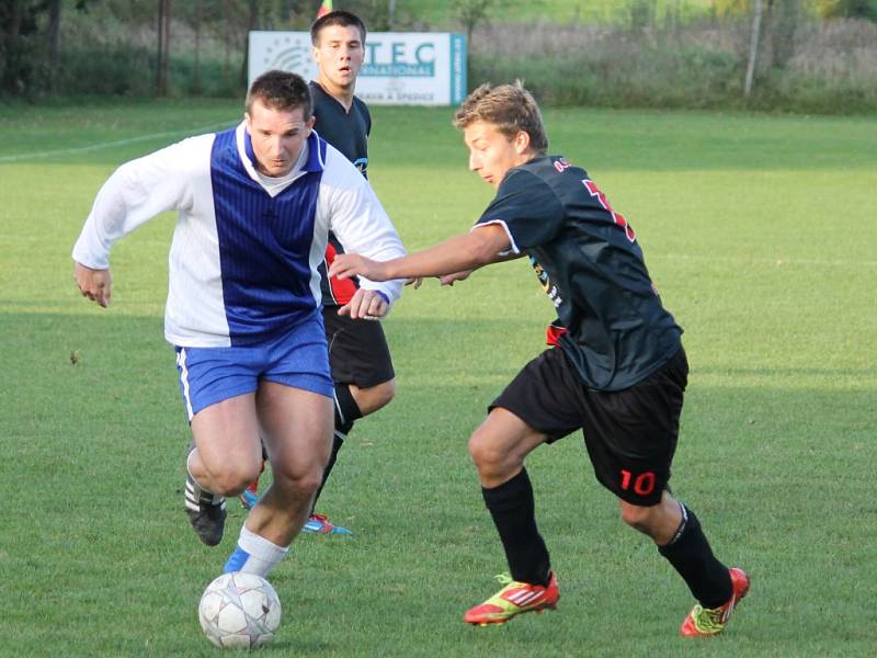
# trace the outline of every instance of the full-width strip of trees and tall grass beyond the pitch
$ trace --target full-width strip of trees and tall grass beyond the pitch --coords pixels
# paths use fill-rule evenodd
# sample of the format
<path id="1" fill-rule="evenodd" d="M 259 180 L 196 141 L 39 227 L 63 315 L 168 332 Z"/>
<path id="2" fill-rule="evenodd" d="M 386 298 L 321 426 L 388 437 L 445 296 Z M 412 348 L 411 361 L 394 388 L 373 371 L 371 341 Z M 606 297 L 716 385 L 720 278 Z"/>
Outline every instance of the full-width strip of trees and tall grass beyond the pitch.
<path id="1" fill-rule="evenodd" d="M 591 0 L 590 4 L 606 0 Z M 251 30 L 307 30 L 320 0 L 3 0 L 0 99 L 241 95 Z M 877 0 L 615 0 L 551 22 L 548 0 L 335 0 L 372 31 L 469 37 L 469 83 L 543 102 L 873 112 Z M 535 22 L 512 22 L 526 5 Z M 586 0 L 577 4 L 589 7 Z"/>

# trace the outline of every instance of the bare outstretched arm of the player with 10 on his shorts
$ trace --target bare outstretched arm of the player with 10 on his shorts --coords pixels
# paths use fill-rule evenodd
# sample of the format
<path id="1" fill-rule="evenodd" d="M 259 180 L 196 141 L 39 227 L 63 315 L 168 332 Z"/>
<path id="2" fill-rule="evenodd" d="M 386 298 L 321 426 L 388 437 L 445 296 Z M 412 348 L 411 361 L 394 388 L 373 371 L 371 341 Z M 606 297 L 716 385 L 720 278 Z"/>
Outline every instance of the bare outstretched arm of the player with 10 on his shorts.
<path id="1" fill-rule="evenodd" d="M 332 262 L 330 274 L 339 279 L 362 275 L 372 281 L 442 276 L 503 260 L 499 253 L 510 246 L 502 227 L 491 225 L 455 236 L 423 251 L 384 262 L 355 253 L 339 254 Z"/>

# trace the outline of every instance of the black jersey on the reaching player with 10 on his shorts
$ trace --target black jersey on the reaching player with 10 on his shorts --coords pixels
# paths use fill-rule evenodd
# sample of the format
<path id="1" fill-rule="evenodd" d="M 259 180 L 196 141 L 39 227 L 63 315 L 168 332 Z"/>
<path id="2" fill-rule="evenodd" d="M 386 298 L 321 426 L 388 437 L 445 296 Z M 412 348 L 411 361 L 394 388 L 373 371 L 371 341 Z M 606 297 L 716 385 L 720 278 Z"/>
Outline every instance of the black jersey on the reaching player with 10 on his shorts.
<path id="1" fill-rule="evenodd" d="M 549 343 L 584 384 L 622 390 L 648 377 L 681 345 L 634 229 L 590 179 L 559 156 L 510 170 L 476 226 L 502 225 L 554 303 Z"/>

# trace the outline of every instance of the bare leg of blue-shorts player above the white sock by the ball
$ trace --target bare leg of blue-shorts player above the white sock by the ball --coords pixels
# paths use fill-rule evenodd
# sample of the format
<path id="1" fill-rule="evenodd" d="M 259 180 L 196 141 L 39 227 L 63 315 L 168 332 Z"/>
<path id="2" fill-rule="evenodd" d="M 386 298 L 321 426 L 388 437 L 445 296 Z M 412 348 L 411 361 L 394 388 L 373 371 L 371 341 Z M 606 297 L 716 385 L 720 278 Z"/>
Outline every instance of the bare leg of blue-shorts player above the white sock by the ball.
<path id="1" fill-rule="evenodd" d="M 274 483 L 250 510 L 247 527 L 287 546 L 310 513 L 332 445 L 332 399 L 263 382 L 257 394 Z"/>

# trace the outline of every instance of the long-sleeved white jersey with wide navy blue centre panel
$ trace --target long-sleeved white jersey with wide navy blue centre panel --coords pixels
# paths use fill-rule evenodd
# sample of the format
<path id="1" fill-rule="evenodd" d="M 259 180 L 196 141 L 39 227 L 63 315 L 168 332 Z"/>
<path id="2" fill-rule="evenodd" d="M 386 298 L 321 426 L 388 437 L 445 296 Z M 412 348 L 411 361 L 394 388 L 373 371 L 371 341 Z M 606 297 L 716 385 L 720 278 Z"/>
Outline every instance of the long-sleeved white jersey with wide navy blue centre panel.
<path id="1" fill-rule="evenodd" d="M 168 211 L 179 216 L 164 337 L 181 347 L 258 342 L 317 308 L 330 229 L 351 252 L 405 256 L 380 202 L 343 155 L 311 133 L 288 182 L 277 184 L 257 172 L 240 124 L 119 167 L 98 193 L 73 259 L 109 268 L 113 242 Z M 402 287 L 360 284 L 390 302 Z"/>

